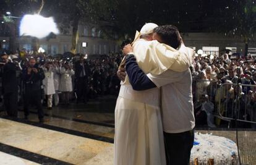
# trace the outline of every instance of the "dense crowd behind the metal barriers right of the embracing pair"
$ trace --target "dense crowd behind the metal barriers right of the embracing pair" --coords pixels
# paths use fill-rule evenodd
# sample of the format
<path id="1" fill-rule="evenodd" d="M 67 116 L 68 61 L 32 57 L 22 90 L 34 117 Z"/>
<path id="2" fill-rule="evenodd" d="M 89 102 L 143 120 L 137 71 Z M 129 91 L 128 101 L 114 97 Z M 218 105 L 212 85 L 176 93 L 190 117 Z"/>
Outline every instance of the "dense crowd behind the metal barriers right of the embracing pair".
<path id="1" fill-rule="evenodd" d="M 256 66 L 253 62 L 245 62 L 252 59 L 252 56 L 245 58 L 230 56 L 228 53 L 220 56 L 196 54 L 190 70 L 197 126 L 234 126 L 233 120 L 225 122 L 216 117 L 220 114 L 227 118 L 237 117 L 256 122 Z M 241 66 L 243 62 L 245 63 Z M 240 85 L 237 86 L 237 83 Z M 236 106 L 239 109 L 237 114 Z M 255 126 L 248 122 L 239 122 L 239 127 L 256 128 Z"/>

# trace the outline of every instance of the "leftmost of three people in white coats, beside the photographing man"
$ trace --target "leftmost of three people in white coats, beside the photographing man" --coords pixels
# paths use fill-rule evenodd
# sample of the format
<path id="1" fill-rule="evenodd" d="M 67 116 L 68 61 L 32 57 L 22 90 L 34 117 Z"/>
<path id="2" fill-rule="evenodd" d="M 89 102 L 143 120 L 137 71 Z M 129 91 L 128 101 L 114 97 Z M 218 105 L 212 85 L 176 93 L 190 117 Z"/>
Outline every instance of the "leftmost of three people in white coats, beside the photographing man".
<path id="1" fill-rule="evenodd" d="M 53 78 L 53 64 L 51 62 L 46 62 L 43 67 L 43 72 L 45 72 L 45 79 L 43 79 L 43 89 L 45 95 L 47 96 L 47 107 L 51 109 L 53 107 L 53 94 L 54 89 L 54 78 Z"/>

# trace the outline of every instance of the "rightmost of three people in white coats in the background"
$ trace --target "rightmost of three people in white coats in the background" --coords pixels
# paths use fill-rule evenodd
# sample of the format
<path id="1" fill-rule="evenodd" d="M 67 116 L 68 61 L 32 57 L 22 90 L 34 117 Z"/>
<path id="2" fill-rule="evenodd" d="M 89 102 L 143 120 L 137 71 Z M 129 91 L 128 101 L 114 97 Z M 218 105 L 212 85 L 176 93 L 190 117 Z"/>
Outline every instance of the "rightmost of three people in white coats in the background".
<path id="1" fill-rule="evenodd" d="M 65 62 L 64 66 L 61 67 L 61 83 L 59 90 L 63 93 L 64 103 L 69 104 L 69 95 L 73 91 L 72 88 L 72 75 L 75 74 L 74 70 L 70 67 L 69 62 Z"/>

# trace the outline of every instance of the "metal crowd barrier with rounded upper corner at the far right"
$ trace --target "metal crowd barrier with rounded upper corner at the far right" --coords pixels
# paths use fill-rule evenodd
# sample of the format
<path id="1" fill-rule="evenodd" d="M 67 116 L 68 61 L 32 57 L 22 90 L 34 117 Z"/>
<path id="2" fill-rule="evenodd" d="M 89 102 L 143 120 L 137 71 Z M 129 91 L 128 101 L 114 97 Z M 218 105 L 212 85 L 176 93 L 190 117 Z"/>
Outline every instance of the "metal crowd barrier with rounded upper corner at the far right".
<path id="1" fill-rule="evenodd" d="M 223 83 L 216 95 L 220 119 L 232 121 L 237 112 L 237 121 L 256 124 L 256 85 Z"/>

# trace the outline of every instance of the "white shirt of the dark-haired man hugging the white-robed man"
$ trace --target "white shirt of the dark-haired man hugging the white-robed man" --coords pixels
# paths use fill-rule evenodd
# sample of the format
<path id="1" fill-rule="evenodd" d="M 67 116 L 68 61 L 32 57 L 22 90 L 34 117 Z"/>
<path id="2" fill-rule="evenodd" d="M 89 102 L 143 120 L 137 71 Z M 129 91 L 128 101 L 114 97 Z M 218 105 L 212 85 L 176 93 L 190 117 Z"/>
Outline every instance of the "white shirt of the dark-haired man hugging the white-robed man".
<path id="1" fill-rule="evenodd" d="M 161 75 L 147 74 L 148 78 L 161 87 L 161 109 L 163 130 L 181 133 L 194 129 L 195 117 L 190 70 L 174 72 L 166 70 Z"/>

